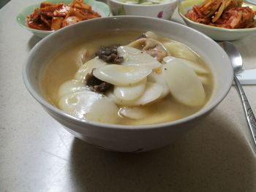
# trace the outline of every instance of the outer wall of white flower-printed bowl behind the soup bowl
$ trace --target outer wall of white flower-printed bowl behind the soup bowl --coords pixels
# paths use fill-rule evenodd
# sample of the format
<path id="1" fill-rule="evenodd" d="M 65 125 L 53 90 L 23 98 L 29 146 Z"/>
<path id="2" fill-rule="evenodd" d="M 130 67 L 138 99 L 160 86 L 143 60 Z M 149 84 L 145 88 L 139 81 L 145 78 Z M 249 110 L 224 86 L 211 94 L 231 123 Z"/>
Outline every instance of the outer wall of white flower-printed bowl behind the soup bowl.
<path id="1" fill-rule="evenodd" d="M 108 0 L 112 15 L 138 15 L 151 18 L 170 20 L 174 10 L 178 6 L 178 0 L 170 0 L 165 4 L 127 4 L 117 0 Z"/>

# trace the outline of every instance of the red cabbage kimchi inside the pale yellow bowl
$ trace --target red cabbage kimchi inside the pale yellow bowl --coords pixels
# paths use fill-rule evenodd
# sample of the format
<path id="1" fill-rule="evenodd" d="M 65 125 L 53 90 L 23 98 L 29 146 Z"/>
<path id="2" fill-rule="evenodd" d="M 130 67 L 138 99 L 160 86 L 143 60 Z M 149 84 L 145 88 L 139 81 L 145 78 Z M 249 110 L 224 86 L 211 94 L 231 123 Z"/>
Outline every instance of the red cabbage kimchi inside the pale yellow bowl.
<path id="1" fill-rule="evenodd" d="M 242 7 L 242 0 L 205 0 L 185 15 L 190 20 L 222 28 L 255 27 L 256 12 Z"/>

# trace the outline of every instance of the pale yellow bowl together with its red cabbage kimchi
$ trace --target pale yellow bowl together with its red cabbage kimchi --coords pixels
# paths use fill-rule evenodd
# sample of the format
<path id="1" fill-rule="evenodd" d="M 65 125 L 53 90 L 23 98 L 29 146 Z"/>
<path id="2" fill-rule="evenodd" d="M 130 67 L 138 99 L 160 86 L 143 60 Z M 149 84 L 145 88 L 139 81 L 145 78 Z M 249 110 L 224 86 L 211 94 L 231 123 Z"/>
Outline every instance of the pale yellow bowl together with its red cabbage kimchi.
<path id="1" fill-rule="evenodd" d="M 256 6 L 242 0 L 184 0 L 178 13 L 187 26 L 217 41 L 256 33 Z"/>

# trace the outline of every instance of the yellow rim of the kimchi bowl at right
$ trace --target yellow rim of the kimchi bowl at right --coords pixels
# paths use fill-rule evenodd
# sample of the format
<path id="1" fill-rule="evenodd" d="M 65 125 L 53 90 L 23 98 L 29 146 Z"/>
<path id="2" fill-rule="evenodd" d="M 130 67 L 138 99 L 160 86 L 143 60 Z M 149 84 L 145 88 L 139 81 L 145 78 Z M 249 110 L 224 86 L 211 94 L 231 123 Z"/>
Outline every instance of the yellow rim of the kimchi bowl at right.
<path id="1" fill-rule="evenodd" d="M 194 1 L 194 0 L 185 0 L 185 1 Z M 217 27 L 217 26 L 209 26 L 209 25 L 206 25 L 206 24 L 203 24 L 203 23 L 197 23 L 197 22 L 187 18 L 184 15 L 184 12 L 181 11 L 181 4 L 185 1 L 182 1 L 178 4 L 178 15 L 180 15 L 181 18 L 183 18 L 183 20 L 193 24 L 194 26 L 198 26 L 200 28 L 207 28 L 209 30 L 214 30 L 214 31 L 224 31 L 224 32 L 228 32 L 228 33 L 230 33 L 230 32 L 241 33 L 241 32 L 248 32 L 248 31 L 256 31 L 256 26 L 252 27 L 252 28 L 222 28 L 222 27 Z M 255 7 L 254 9 L 256 9 L 255 4 L 248 4 L 248 3 L 244 2 L 243 5 Z"/>

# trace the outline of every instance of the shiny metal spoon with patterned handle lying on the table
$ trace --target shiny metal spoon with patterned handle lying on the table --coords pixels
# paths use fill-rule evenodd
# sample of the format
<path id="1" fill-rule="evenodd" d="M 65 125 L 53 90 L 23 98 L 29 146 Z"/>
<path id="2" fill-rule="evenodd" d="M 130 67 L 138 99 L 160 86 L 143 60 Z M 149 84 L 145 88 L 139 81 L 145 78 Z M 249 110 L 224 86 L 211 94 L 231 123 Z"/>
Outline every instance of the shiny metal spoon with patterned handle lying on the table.
<path id="1" fill-rule="evenodd" d="M 249 105 L 249 101 L 246 98 L 246 95 L 244 93 L 244 89 L 242 88 L 238 78 L 236 75 L 238 72 L 242 69 L 243 66 L 243 61 L 241 58 L 240 53 L 236 49 L 236 47 L 230 43 L 230 42 L 222 42 L 220 43 L 220 46 L 225 50 L 227 55 L 230 58 L 231 64 L 234 69 L 234 82 L 236 83 L 237 90 L 239 92 L 239 95 L 241 97 L 241 101 L 243 102 L 244 106 L 244 112 L 246 115 L 246 120 L 249 125 L 249 130 L 252 134 L 252 139 L 253 139 L 253 150 L 256 153 L 256 120 L 255 120 L 255 115 L 252 112 L 251 106 Z"/>

